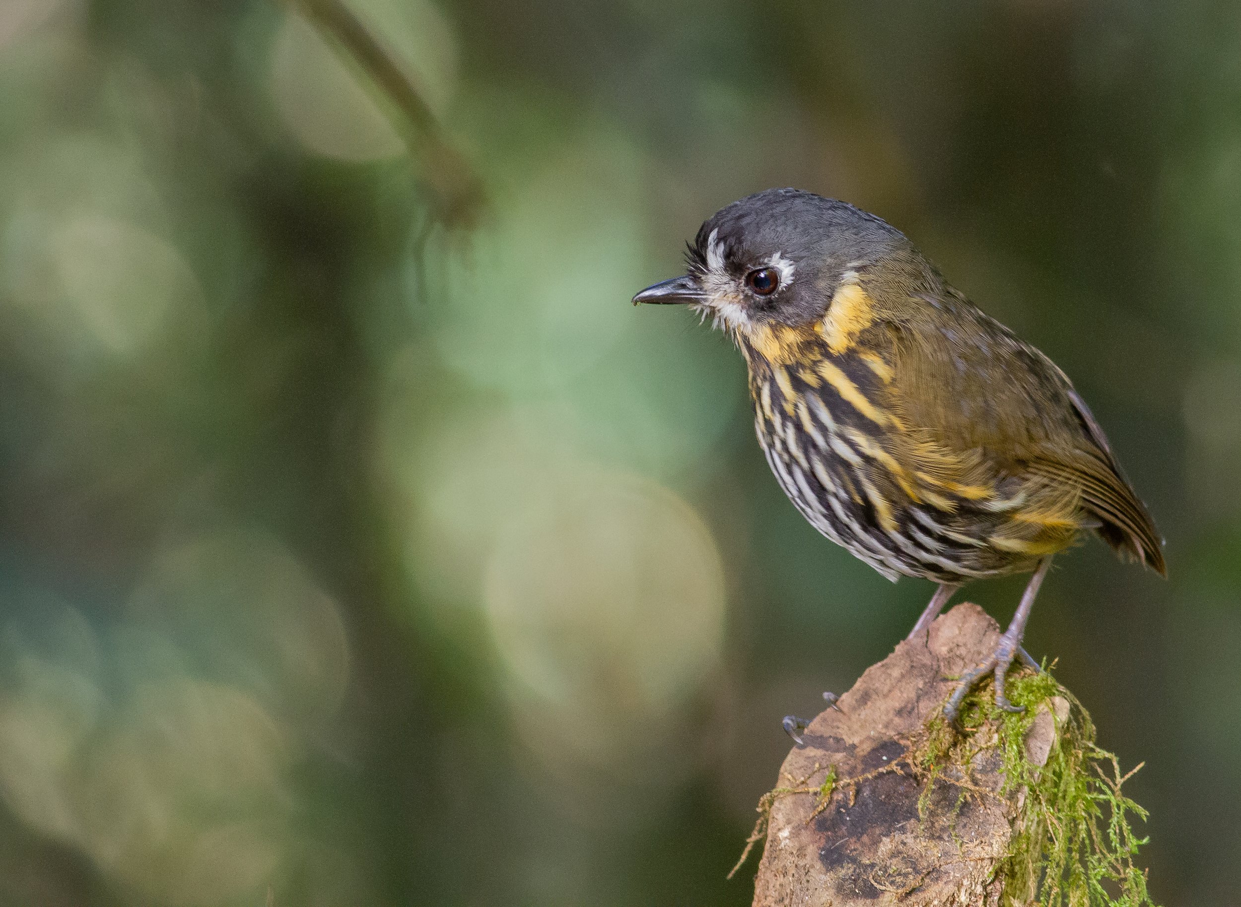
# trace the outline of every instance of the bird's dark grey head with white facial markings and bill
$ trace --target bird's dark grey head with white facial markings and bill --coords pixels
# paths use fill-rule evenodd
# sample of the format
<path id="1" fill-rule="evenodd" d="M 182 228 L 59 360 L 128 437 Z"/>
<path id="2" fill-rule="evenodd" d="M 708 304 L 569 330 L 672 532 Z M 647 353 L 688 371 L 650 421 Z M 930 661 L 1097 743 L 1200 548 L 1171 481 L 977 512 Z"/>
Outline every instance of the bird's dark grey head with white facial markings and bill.
<path id="1" fill-rule="evenodd" d="M 772 189 L 721 208 L 689 246 L 686 273 L 634 304 L 688 304 L 742 337 L 822 321 L 836 292 L 908 241 L 835 199 Z"/>

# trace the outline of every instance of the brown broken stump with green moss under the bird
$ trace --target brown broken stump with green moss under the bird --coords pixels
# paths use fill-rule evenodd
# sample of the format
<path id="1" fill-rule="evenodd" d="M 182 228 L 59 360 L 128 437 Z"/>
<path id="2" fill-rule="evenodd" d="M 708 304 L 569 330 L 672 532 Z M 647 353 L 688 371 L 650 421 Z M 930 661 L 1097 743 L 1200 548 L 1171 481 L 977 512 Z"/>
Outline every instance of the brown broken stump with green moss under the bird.
<path id="1" fill-rule="evenodd" d="M 957 725 L 943 720 L 952 677 L 999 634 L 958 605 L 810 723 L 758 806 L 756 907 L 1152 903 L 1129 824 L 1145 813 L 1050 672 L 1010 676 L 1021 713 L 983 685 Z"/>

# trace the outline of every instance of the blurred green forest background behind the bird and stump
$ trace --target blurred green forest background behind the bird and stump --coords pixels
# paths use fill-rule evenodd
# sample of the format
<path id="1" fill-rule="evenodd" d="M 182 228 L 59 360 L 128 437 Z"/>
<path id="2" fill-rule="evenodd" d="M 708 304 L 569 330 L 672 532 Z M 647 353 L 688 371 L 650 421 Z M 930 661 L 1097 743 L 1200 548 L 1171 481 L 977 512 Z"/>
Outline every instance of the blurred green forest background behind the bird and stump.
<path id="1" fill-rule="evenodd" d="M 784 185 L 1108 429 L 1172 579 L 1088 543 L 1028 646 L 1147 762 L 1157 900 L 1241 903 L 1235 4 L 350 5 L 475 225 L 284 6 L 0 2 L 0 903 L 748 903 L 781 717 L 931 594 L 784 500 L 721 335 L 629 305 Z"/>

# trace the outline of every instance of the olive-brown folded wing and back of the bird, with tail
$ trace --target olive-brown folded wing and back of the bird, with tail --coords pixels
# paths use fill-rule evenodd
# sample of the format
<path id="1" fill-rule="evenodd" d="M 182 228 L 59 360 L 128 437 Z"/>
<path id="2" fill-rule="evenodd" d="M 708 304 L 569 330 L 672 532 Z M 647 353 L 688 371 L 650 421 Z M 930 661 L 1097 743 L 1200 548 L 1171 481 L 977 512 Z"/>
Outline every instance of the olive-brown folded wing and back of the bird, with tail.
<path id="1" fill-rule="evenodd" d="M 1042 521 L 1055 538 L 1055 529 L 1077 519 L 1118 552 L 1165 573 L 1150 515 L 1064 372 L 959 294 L 937 302 L 949 318 L 920 306 L 890 326 L 890 406 L 906 428 L 930 438 L 927 449 L 965 464 L 970 485 L 990 483 L 999 494 L 1001 483 L 1026 480 L 1030 509 L 1016 509 L 1015 524 Z M 1097 525 L 1082 522 L 1082 511 Z"/>

